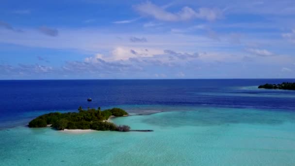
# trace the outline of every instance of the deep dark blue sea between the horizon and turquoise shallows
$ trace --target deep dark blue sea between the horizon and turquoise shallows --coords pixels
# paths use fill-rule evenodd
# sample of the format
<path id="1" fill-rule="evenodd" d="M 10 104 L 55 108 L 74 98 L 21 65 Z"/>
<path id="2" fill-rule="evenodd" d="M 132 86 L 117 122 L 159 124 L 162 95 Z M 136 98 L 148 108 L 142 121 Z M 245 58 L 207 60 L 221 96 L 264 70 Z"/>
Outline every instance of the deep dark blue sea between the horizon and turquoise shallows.
<path id="1" fill-rule="evenodd" d="M 7 123 L 26 113 L 79 106 L 143 104 L 294 111 L 295 91 L 256 88 L 281 82 L 295 79 L 0 81 L 0 120 Z"/>

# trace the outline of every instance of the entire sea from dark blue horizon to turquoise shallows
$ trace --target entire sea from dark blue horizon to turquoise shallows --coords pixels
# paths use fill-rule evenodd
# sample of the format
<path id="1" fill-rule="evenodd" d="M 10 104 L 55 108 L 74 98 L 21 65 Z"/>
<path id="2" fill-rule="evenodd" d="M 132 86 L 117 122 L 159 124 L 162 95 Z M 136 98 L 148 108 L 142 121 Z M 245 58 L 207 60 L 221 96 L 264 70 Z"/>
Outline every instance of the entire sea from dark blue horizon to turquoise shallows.
<path id="1" fill-rule="evenodd" d="M 0 81 L 0 166 L 295 165 L 295 80 Z M 86 99 L 91 97 L 92 102 Z M 113 106 L 154 132 L 30 129 L 33 117 Z"/>

